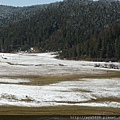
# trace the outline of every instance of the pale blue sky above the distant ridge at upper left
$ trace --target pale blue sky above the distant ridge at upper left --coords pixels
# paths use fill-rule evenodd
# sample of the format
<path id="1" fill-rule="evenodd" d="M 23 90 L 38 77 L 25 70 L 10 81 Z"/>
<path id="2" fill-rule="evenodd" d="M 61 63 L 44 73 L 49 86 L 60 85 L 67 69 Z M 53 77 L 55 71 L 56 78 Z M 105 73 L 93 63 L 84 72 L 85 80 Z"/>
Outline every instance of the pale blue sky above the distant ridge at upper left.
<path id="1" fill-rule="evenodd" d="M 53 3 L 56 1 L 63 1 L 63 0 L 0 0 L 0 4 L 10 5 L 10 6 L 30 6 L 37 4 Z"/>

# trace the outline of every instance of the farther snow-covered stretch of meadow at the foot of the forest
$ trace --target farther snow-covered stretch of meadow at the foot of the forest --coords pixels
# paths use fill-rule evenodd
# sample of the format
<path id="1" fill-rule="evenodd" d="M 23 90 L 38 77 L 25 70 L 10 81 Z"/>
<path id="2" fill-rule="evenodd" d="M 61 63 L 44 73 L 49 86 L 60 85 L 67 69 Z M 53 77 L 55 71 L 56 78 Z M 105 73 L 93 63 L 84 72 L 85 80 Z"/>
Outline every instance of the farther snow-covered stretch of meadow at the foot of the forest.
<path id="1" fill-rule="evenodd" d="M 0 75 L 57 75 L 57 74 L 101 74 L 107 68 L 94 67 L 104 62 L 59 60 L 51 53 L 9 54 L 0 53 Z M 120 67 L 120 63 L 114 63 Z M 115 69 L 113 69 L 115 70 Z M 120 69 L 117 69 L 120 71 Z"/>

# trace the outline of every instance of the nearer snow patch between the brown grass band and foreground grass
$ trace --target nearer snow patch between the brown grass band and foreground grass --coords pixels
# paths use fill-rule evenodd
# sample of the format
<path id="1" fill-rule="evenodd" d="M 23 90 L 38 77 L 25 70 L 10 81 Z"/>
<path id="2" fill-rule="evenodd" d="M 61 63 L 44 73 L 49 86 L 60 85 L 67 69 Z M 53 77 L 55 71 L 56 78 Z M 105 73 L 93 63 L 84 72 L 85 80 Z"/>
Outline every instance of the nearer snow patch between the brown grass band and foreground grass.
<path id="1" fill-rule="evenodd" d="M 0 105 L 25 107 L 76 105 L 120 108 L 120 103 L 116 101 L 90 102 L 100 98 L 119 99 L 119 88 L 120 79 L 80 79 L 46 86 L 0 84 Z"/>

